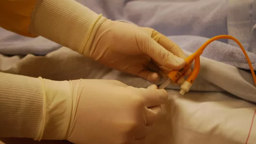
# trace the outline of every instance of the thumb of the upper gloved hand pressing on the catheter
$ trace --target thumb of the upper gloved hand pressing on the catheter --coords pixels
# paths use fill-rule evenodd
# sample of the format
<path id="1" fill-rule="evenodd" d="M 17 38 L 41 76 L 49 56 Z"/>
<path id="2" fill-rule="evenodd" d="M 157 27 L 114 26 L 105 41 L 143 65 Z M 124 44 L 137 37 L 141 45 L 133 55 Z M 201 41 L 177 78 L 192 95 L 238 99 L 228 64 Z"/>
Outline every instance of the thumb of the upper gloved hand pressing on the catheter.
<path id="1" fill-rule="evenodd" d="M 173 53 L 159 45 L 153 38 L 150 38 L 149 45 L 142 48 L 142 52 L 154 59 L 159 65 L 171 70 L 180 70 L 185 66 L 185 60 L 175 56 Z"/>

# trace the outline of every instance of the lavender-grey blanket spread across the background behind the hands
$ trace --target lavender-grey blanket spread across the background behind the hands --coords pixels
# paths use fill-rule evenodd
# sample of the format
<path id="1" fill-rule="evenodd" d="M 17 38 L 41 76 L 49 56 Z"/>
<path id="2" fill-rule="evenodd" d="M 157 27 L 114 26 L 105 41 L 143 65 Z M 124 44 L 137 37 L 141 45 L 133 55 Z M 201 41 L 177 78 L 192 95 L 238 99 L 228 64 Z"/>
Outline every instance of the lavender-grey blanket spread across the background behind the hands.
<path id="1" fill-rule="evenodd" d="M 155 28 L 189 52 L 196 51 L 207 38 L 232 35 L 242 42 L 256 70 L 256 0 L 77 1 L 109 19 L 124 19 Z M 249 68 L 242 51 L 232 40 L 219 41 L 209 45 L 203 56 L 238 68 Z M 42 37 L 26 38 L 0 29 L 2 54 L 45 55 L 59 47 Z"/>

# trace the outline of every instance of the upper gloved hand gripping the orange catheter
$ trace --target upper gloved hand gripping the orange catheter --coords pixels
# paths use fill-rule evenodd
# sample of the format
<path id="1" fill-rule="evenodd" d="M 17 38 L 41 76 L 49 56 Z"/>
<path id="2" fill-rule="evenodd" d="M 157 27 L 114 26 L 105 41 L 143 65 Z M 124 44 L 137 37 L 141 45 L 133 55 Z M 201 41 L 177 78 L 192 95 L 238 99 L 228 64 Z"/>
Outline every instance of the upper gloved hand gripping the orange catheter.
<path id="1" fill-rule="evenodd" d="M 186 58 L 178 45 L 154 29 L 109 19 L 98 28 L 89 52 L 89 57 L 110 68 L 151 82 L 159 80 L 159 68 L 165 73 L 179 70 Z"/>

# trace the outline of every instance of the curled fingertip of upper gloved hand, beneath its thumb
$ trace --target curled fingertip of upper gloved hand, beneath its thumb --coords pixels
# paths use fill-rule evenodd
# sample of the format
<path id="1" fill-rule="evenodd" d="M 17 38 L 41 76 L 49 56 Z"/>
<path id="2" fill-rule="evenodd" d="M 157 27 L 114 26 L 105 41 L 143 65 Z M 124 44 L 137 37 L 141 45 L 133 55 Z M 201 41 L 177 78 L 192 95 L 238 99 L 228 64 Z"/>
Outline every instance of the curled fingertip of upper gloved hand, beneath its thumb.
<path id="1" fill-rule="evenodd" d="M 142 69 L 139 73 L 137 73 L 137 76 L 140 76 L 141 78 L 145 78 L 146 80 L 149 80 L 152 83 L 157 83 L 160 80 L 160 76 L 158 73 Z"/>

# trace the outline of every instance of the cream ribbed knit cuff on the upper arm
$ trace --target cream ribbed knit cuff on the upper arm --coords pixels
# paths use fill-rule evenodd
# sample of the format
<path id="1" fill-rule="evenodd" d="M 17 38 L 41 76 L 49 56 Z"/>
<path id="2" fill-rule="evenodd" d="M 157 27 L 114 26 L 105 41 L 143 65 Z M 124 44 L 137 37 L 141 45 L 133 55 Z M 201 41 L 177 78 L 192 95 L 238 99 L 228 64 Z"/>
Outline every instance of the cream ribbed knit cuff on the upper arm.
<path id="1" fill-rule="evenodd" d="M 105 19 L 74 0 L 38 0 L 30 31 L 89 56 L 94 35 Z"/>

